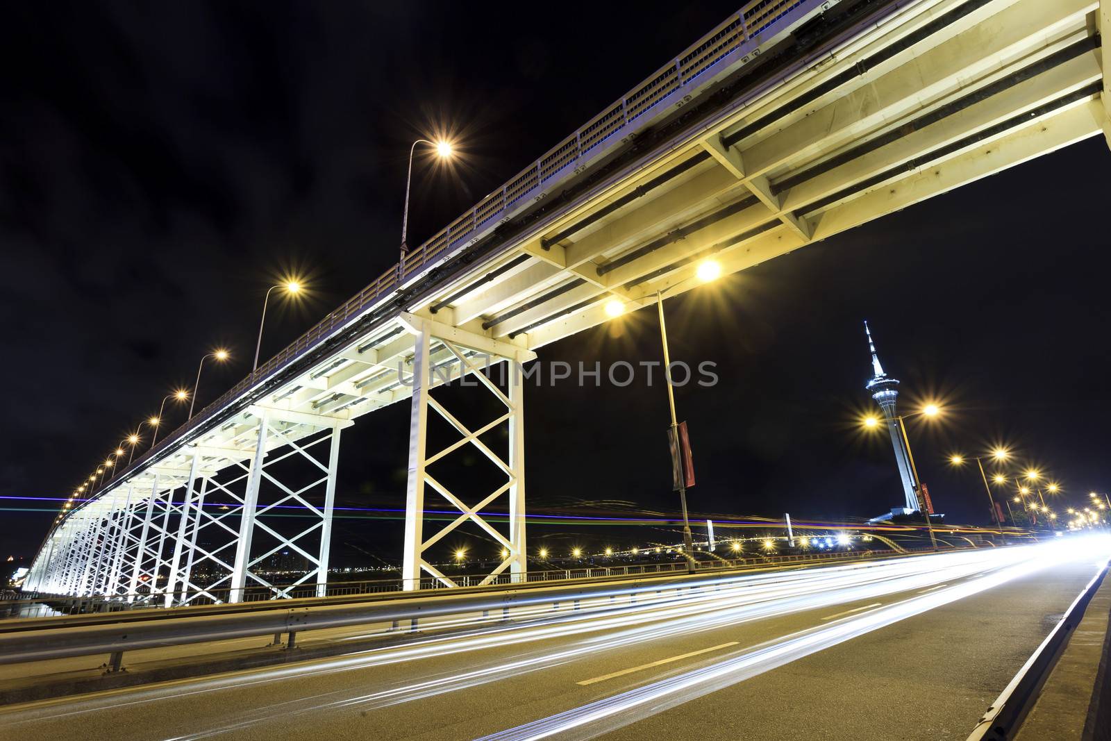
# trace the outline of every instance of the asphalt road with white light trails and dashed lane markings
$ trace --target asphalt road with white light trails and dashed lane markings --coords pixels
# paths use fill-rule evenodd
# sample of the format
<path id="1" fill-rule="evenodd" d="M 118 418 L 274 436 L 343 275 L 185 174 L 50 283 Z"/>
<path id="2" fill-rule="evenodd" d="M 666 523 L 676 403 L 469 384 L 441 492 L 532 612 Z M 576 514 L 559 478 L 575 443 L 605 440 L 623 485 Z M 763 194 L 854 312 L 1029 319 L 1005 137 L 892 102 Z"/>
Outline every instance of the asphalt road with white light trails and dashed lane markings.
<path id="1" fill-rule="evenodd" d="M 723 578 L 9 707 L 11 739 L 963 739 L 1105 562 L 1051 543 Z"/>

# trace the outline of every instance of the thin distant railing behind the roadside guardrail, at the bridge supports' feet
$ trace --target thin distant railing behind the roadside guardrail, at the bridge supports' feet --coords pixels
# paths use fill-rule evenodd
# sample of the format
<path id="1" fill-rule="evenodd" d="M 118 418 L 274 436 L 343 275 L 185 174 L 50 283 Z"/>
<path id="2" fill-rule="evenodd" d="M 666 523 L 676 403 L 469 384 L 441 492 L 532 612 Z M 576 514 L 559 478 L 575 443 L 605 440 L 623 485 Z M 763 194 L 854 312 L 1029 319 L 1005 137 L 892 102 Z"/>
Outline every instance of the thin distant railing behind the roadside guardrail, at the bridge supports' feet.
<path id="1" fill-rule="evenodd" d="M 837 551 L 820 553 L 801 553 L 791 555 L 753 555 L 749 558 L 721 559 L 713 561 L 700 561 L 698 573 L 708 573 L 717 570 L 738 569 L 742 567 L 760 565 L 790 565 L 792 563 L 825 563 L 845 559 L 860 559 L 875 555 L 894 555 L 897 551 L 882 549 L 869 551 Z M 487 574 L 456 577 L 456 582 L 463 588 L 477 587 L 511 587 L 514 584 L 538 584 L 550 582 L 584 581 L 590 579 L 605 579 L 614 577 L 633 577 L 665 573 L 685 573 L 687 562 L 677 561 L 669 563 L 639 563 L 629 565 L 610 567 L 582 567 L 575 569 L 548 569 L 544 571 L 530 571 L 522 579 L 518 574 L 501 573 L 486 584 Z M 324 597 L 320 598 L 320 588 L 324 588 Z M 370 594 L 400 593 L 403 591 L 403 583 L 400 579 L 389 580 L 361 580 L 351 582 L 333 582 L 326 584 L 300 583 L 274 587 L 247 587 L 242 590 L 238 604 L 276 602 L 281 599 L 329 599 L 342 597 L 360 597 Z M 419 591 L 444 591 L 453 588 L 444 587 L 439 580 L 427 577 L 420 580 Z M 418 590 L 414 590 L 418 591 Z M 227 604 L 230 602 L 232 590 L 194 590 L 184 592 L 170 610 L 182 607 L 203 607 L 211 604 Z M 130 600 L 128 598 L 131 598 Z M 10 619 L 33 619 L 52 618 L 74 614 L 114 613 L 131 610 L 166 610 L 166 592 L 144 591 L 138 594 L 118 597 L 60 597 L 51 594 L 36 594 L 33 597 L 19 595 L 17 599 L 0 598 L 0 610 L 6 607 L 11 608 L 12 603 L 22 603 L 26 607 L 20 614 L 10 614 Z M 3 619 L 0 618 L 0 624 Z"/>

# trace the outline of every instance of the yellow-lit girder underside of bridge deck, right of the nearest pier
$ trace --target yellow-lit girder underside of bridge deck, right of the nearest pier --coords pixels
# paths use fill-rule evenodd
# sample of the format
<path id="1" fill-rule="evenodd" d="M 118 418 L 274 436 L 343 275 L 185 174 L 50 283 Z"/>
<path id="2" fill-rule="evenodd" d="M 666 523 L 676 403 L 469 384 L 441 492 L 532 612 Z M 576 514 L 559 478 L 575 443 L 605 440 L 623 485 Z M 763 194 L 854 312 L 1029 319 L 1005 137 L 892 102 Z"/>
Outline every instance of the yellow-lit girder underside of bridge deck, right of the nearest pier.
<path id="1" fill-rule="evenodd" d="M 702 259 L 743 270 L 1107 132 L 1100 12 L 1091 0 L 910 3 L 667 142 L 491 262 L 492 280 L 426 306 L 537 349 L 605 321 L 608 300 L 637 308 L 692 288 Z"/>

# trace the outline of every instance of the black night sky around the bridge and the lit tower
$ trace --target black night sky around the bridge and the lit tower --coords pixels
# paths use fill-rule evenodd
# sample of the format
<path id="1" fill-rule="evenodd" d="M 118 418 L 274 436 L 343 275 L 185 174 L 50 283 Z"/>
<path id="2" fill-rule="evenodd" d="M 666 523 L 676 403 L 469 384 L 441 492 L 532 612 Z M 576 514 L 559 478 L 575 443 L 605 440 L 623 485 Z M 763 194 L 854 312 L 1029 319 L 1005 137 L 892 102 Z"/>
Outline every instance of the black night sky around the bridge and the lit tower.
<path id="1" fill-rule="evenodd" d="M 412 139 L 449 133 L 464 156 L 450 172 L 418 163 L 418 244 L 735 3 L 522 8 L 6 8 L 0 494 L 68 495 L 166 393 L 191 387 L 209 348 L 236 362 L 206 370 L 198 408 L 236 383 L 278 277 L 308 276 L 311 294 L 272 304 L 263 359 L 390 267 Z M 1107 141 L 1090 139 L 669 301 L 673 358 L 715 361 L 721 378 L 677 392 L 692 511 L 840 520 L 901 502 L 890 442 L 860 432 L 864 319 L 903 408 L 945 408 L 910 432 L 950 520 L 988 521 L 974 470 L 947 463 L 958 450 L 1005 443 L 1072 501 L 1111 489 L 1109 166 Z M 540 354 L 659 352 L 650 309 Z M 532 511 L 677 511 L 662 387 L 530 388 L 527 403 Z M 408 414 L 398 404 L 344 433 L 338 504 L 404 505 Z M 57 504 L 3 505 L 0 555 L 32 554 Z M 346 520 L 336 542 L 342 562 L 396 559 L 399 540 L 397 521 Z"/>

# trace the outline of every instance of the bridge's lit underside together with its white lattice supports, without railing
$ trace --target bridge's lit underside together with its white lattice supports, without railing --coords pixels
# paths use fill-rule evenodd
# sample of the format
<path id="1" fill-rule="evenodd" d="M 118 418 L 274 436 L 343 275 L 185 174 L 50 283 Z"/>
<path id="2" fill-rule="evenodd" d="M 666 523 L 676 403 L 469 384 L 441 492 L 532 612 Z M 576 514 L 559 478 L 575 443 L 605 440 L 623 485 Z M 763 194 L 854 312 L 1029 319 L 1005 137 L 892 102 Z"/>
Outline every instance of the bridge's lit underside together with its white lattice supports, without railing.
<path id="1" fill-rule="evenodd" d="M 641 154 L 504 249 L 323 343 L 311 362 L 260 381 L 103 488 L 52 530 L 29 587 L 122 595 L 146 585 L 167 604 L 240 599 L 252 585 L 288 595 L 273 588 L 288 582 L 266 572 L 281 550 L 303 559 L 302 583 L 324 582 L 340 431 L 410 398 L 409 587 L 421 574 L 452 583 L 426 553 L 446 542 L 423 530 L 426 489 L 459 510 L 448 532 L 473 523 L 502 544 L 491 578 L 523 573 L 521 390 L 479 384 L 506 412 L 471 430 L 429 394 L 448 380 L 443 369 L 477 378 L 487 362 L 503 363 L 517 378 L 536 349 L 607 321 L 607 302 L 635 309 L 658 291 L 694 287 L 703 260 L 737 272 L 1088 137 L 1111 141 L 1099 34 L 1108 7 L 919 0 L 810 43 L 804 63 L 778 77 L 750 76 L 678 134 L 639 138 Z M 414 369 L 422 380 L 407 383 Z M 459 434 L 432 454 L 429 409 Z M 481 435 L 499 424 L 509 442 L 494 451 Z M 506 477 L 472 504 L 427 470 L 468 447 Z M 313 475 L 290 480 L 301 474 L 282 469 L 289 457 Z M 506 500 L 508 530 L 480 514 Z M 268 520 L 286 507 L 312 517 L 296 527 Z"/>

